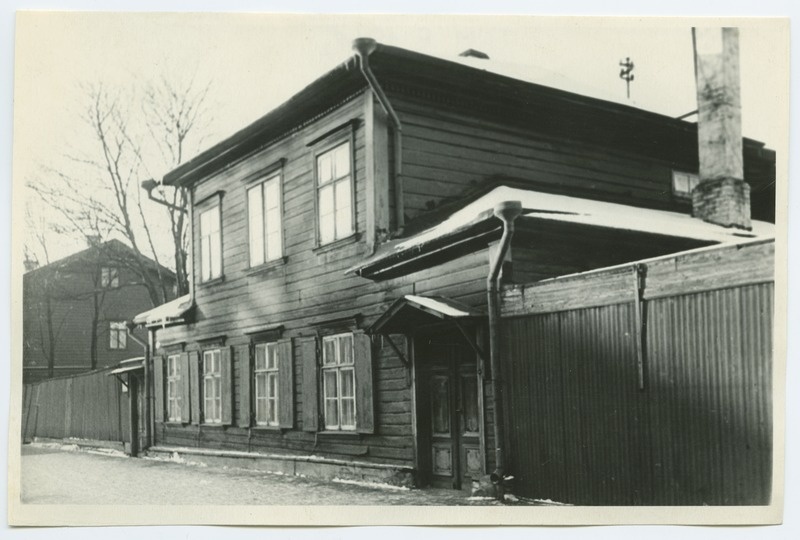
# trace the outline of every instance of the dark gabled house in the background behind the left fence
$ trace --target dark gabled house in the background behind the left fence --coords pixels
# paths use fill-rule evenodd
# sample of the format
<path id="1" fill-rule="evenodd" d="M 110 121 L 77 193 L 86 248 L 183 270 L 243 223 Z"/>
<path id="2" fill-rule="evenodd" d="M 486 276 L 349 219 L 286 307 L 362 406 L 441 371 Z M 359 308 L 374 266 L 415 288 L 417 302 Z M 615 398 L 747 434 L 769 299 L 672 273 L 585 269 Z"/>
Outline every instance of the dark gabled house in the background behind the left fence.
<path id="1" fill-rule="evenodd" d="M 126 321 L 153 306 L 132 268 L 141 267 L 133 250 L 118 240 L 98 243 L 23 276 L 23 381 L 72 375 L 141 356 L 129 339 Z M 150 259 L 143 263 L 175 294 L 171 270 Z M 144 332 L 137 332 L 140 339 Z"/>

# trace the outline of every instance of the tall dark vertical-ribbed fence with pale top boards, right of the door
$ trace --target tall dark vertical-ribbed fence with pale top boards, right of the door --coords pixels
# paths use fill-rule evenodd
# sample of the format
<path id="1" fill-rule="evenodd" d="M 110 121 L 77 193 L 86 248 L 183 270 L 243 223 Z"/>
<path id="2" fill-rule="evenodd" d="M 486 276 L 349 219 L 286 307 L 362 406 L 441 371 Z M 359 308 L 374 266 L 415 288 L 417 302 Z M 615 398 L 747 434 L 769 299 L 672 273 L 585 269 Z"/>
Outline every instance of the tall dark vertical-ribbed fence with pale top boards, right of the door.
<path id="1" fill-rule="evenodd" d="M 574 504 L 767 504 L 773 247 L 506 291 L 516 490 Z"/>

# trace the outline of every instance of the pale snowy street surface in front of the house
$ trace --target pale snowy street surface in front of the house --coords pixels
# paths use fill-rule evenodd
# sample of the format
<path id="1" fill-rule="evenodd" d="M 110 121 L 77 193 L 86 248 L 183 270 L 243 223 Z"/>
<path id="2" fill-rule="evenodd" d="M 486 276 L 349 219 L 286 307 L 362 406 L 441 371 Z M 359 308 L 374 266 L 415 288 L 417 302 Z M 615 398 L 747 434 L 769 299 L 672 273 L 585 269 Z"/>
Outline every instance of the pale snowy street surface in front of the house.
<path id="1" fill-rule="evenodd" d="M 25 445 L 26 504 L 497 505 L 444 489 L 400 490 Z"/>

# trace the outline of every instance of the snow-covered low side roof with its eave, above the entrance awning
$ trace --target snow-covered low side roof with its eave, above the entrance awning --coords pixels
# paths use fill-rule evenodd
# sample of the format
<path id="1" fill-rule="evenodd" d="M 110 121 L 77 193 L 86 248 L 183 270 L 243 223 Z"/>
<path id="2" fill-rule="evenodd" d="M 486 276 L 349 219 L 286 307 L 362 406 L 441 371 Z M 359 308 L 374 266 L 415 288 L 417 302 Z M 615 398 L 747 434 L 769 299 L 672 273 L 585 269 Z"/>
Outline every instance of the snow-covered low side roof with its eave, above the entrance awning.
<path id="1" fill-rule="evenodd" d="M 404 265 L 420 261 L 436 251 L 456 249 L 464 244 L 477 246 L 479 241 L 485 246 L 487 239 L 499 233 L 500 221 L 494 217 L 493 209 L 506 201 L 522 203 L 523 212 L 518 220 L 631 231 L 695 240 L 699 244 L 738 243 L 775 236 L 775 226 L 763 221 L 754 220 L 752 230 L 744 231 L 707 223 L 679 212 L 498 186 L 440 223 L 408 238 L 382 245 L 375 255 L 348 272 L 370 279 L 384 279 L 403 273 Z"/>

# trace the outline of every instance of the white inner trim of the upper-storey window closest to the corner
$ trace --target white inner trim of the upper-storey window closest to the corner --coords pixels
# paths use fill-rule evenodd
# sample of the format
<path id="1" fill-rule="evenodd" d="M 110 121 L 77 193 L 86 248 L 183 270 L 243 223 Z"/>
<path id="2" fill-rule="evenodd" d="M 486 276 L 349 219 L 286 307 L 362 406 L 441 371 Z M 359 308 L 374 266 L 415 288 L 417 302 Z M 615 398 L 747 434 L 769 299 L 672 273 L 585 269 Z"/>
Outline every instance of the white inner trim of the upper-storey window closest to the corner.
<path id="1" fill-rule="evenodd" d="M 347 145 L 348 152 L 347 156 L 349 159 L 349 173 L 344 176 L 335 176 L 327 181 L 324 185 L 320 184 L 320 168 L 319 162 L 320 158 L 324 157 L 327 154 L 333 155 L 333 153 L 341 148 L 342 146 Z M 338 230 L 338 220 L 337 220 L 337 205 L 336 205 L 336 188 L 339 184 L 347 182 L 349 185 L 349 221 L 350 221 L 350 228 L 345 231 Z M 352 133 L 347 136 L 336 136 L 334 139 L 331 139 L 330 142 L 324 146 L 321 146 L 315 153 L 314 153 L 314 184 L 315 184 L 315 206 L 316 206 L 316 230 L 317 230 L 317 245 L 318 246 L 326 246 L 329 244 L 333 244 L 338 242 L 339 240 L 344 240 L 345 238 L 349 238 L 356 234 L 356 190 L 355 190 L 355 159 L 354 159 L 354 141 Z M 322 191 L 326 188 L 330 187 L 332 190 L 332 204 L 333 204 L 333 237 L 326 238 L 323 240 L 322 237 L 322 215 L 321 215 L 321 194 Z"/>

